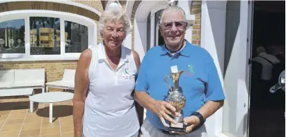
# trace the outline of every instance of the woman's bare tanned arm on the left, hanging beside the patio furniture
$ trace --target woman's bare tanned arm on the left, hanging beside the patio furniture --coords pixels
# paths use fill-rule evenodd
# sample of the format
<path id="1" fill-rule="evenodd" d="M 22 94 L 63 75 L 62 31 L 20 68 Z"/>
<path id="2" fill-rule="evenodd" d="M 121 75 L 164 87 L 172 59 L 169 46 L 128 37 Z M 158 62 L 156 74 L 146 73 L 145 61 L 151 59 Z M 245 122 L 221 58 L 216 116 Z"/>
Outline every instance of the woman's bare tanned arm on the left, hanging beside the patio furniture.
<path id="1" fill-rule="evenodd" d="M 86 102 L 86 92 L 88 90 L 88 68 L 91 61 L 91 50 L 86 49 L 81 53 L 77 62 L 77 70 L 74 76 L 74 137 L 82 137 L 84 104 Z"/>

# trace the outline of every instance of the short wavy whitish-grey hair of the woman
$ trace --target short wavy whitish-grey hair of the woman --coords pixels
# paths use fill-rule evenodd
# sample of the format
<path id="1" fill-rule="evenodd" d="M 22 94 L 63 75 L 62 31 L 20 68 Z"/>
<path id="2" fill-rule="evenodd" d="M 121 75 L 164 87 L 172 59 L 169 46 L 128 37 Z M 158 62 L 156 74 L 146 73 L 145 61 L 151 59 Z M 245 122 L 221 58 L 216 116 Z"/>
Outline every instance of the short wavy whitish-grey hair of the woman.
<path id="1" fill-rule="evenodd" d="M 104 26 L 106 22 L 115 22 L 115 21 L 123 21 L 124 25 L 124 32 L 125 35 L 128 35 L 128 33 L 131 31 L 131 25 L 129 21 L 129 17 L 123 11 L 122 9 L 120 10 L 105 10 L 104 13 L 100 16 L 100 21 L 98 22 L 98 29 L 100 31 L 100 35 L 102 36 L 102 31 L 104 29 Z"/>

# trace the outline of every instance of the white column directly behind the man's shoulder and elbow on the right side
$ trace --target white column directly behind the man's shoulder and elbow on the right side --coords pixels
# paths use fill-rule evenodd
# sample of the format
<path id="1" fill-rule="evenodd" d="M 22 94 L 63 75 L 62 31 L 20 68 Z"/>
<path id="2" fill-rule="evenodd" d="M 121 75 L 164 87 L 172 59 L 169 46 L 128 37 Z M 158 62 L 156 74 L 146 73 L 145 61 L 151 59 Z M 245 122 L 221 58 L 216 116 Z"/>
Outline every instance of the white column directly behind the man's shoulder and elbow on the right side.
<path id="1" fill-rule="evenodd" d="M 226 1 L 202 1 L 201 45 L 214 58 L 216 69 L 223 86 L 223 65 L 225 47 L 225 5 Z M 206 122 L 209 137 L 222 131 L 223 108 L 216 111 Z M 220 135 L 221 136 L 221 135 Z"/>

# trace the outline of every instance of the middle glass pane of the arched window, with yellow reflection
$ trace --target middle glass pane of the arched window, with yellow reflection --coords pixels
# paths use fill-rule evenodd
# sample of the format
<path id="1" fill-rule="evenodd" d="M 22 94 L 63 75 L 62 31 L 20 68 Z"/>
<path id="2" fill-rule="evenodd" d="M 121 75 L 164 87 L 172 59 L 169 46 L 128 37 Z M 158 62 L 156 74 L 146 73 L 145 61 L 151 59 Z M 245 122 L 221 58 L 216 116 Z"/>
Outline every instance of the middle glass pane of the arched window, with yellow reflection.
<path id="1" fill-rule="evenodd" d="M 61 54 L 60 19 L 30 17 L 31 55 Z"/>

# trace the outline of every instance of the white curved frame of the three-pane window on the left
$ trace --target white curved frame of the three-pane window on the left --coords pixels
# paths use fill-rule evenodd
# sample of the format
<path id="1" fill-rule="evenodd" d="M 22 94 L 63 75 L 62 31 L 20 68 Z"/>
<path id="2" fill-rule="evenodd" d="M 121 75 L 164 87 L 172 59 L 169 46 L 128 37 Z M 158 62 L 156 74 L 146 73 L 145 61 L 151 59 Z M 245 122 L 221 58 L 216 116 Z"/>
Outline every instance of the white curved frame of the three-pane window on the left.
<path id="1" fill-rule="evenodd" d="M 56 17 L 61 24 L 61 54 L 31 55 L 30 54 L 30 17 Z M 78 60 L 81 53 L 65 53 L 65 21 L 74 22 L 88 27 L 88 48 L 97 43 L 97 24 L 93 19 L 51 10 L 15 10 L 0 13 L 0 22 L 24 19 L 25 22 L 25 54 L 0 54 L 0 61 L 63 61 Z"/>

